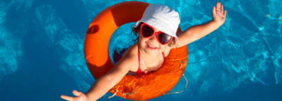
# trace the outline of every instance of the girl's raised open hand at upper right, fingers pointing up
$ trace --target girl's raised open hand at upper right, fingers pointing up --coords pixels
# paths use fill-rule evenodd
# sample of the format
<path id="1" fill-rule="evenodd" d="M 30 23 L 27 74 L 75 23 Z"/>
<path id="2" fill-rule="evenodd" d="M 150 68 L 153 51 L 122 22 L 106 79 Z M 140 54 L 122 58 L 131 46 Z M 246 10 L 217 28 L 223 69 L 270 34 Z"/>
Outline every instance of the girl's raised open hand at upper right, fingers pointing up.
<path id="1" fill-rule="evenodd" d="M 226 17 L 226 10 L 224 12 L 224 5 L 221 5 L 220 2 L 217 2 L 216 7 L 213 6 L 213 21 L 219 25 L 223 25 Z"/>

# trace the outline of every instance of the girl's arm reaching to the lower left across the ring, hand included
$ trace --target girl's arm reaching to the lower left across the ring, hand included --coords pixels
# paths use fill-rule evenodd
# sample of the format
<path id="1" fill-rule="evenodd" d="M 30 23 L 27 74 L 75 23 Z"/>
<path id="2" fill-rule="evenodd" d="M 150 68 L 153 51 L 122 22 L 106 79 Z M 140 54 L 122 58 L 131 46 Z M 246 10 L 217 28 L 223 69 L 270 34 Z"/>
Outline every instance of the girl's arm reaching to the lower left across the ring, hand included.
<path id="1" fill-rule="evenodd" d="M 122 59 L 107 74 L 98 78 L 86 93 L 74 90 L 73 93 L 76 97 L 61 95 L 61 98 L 70 101 L 96 101 L 104 96 L 109 89 L 122 80 L 131 68 L 135 68 L 135 58 L 133 58 L 133 55 L 127 54 L 125 53 Z"/>

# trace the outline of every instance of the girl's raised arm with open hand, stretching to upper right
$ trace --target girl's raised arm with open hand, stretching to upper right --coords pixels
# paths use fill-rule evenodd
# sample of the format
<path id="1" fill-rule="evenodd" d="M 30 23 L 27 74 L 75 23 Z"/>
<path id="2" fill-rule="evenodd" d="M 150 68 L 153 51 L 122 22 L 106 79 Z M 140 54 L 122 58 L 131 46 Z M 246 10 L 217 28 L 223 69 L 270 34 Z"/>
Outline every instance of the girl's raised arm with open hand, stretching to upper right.
<path id="1" fill-rule="evenodd" d="M 224 5 L 221 5 L 220 2 L 217 2 L 216 7 L 213 7 L 213 20 L 210 20 L 208 23 L 204 23 L 202 25 L 195 25 L 193 27 L 189 27 L 185 31 L 177 33 L 178 42 L 174 46 L 181 47 L 195 40 L 199 40 L 204 36 L 208 35 L 218 29 L 221 25 L 224 24 L 226 19 L 226 10 L 224 12 Z"/>

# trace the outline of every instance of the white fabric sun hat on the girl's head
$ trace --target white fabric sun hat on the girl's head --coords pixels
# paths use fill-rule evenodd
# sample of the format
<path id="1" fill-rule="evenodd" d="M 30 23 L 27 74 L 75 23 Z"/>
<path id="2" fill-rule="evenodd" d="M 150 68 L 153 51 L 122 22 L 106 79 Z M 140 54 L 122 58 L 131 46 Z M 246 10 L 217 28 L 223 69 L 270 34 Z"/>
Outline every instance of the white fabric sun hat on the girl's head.
<path id="1" fill-rule="evenodd" d="M 175 44 L 177 43 L 176 32 L 180 24 L 180 16 L 172 8 L 166 5 L 151 4 L 146 8 L 141 20 L 138 20 L 133 27 L 138 27 L 141 22 L 172 35 L 175 38 Z"/>

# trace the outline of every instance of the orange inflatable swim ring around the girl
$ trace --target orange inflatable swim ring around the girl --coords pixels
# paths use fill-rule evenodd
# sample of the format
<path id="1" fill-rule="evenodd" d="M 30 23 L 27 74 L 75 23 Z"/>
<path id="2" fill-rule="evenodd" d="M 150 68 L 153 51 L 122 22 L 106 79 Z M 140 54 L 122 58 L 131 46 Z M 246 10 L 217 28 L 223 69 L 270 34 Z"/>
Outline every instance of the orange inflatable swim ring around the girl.
<path id="1" fill-rule="evenodd" d="M 85 35 L 84 53 L 87 67 L 96 80 L 113 68 L 108 52 L 111 34 L 121 25 L 140 20 L 148 5 L 140 1 L 118 3 L 106 8 L 92 20 Z M 180 31 L 179 28 L 177 32 Z M 187 46 L 171 49 L 162 68 L 144 78 L 126 75 L 109 92 L 129 100 L 149 100 L 162 96 L 180 80 L 187 58 Z"/>

